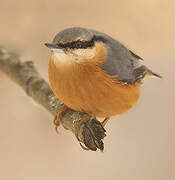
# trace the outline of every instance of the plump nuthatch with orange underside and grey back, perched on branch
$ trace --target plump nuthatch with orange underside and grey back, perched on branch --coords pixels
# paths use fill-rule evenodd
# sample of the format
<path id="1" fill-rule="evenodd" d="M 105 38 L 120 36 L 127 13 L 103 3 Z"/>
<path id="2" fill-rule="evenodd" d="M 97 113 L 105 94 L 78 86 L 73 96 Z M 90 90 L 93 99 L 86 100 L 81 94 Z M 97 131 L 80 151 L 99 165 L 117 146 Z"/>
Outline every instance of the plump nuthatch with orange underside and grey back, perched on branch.
<path id="1" fill-rule="evenodd" d="M 45 45 L 51 50 L 51 89 L 64 103 L 54 121 L 56 129 L 68 108 L 103 118 L 104 127 L 110 117 L 137 104 L 145 77 L 161 78 L 121 42 L 93 29 L 67 28 Z"/>

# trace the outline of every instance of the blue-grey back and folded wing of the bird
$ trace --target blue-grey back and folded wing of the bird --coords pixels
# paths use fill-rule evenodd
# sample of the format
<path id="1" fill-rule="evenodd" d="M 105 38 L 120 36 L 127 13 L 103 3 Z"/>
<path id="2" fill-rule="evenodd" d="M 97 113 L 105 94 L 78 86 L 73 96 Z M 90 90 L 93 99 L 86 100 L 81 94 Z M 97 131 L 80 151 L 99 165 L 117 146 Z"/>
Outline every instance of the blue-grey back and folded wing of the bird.
<path id="1" fill-rule="evenodd" d="M 132 84 L 143 78 L 148 72 L 142 65 L 142 58 L 110 36 L 91 30 L 96 39 L 107 49 L 107 58 L 101 68 L 109 75 L 116 75 L 119 81 Z"/>

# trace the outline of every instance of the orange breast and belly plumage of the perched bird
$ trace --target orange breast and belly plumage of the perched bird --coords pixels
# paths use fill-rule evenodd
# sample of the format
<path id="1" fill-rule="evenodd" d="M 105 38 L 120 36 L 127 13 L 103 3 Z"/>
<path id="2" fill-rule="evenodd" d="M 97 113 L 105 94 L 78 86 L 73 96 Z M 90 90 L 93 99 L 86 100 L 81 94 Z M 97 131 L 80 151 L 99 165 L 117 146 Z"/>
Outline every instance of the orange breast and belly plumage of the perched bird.
<path id="1" fill-rule="evenodd" d="M 92 113 L 97 117 L 124 113 L 137 103 L 140 83 L 117 83 L 98 66 L 97 61 L 102 62 L 105 52 L 100 46 L 97 50 L 98 57 L 84 63 L 59 66 L 50 59 L 51 88 L 65 105 L 74 110 Z"/>

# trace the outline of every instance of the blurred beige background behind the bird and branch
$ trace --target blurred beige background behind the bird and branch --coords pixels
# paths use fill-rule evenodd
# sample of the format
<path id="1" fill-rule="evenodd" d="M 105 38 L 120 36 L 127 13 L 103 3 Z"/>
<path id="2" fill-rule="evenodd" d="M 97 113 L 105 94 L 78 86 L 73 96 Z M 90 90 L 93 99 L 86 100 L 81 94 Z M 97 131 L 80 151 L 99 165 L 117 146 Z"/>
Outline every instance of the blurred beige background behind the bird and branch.
<path id="1" fill-rule="evenodd" d="M 145 59 L 138 105 L 107 124 L 105 151 L 76 138 L 0 72 L 1 180 L 175 179 L 175 3 L 173 0 L 0 0 L 0 44 L 33 60 L 47 79 L 45 42 L 60 30 L 103 31 Z"/>

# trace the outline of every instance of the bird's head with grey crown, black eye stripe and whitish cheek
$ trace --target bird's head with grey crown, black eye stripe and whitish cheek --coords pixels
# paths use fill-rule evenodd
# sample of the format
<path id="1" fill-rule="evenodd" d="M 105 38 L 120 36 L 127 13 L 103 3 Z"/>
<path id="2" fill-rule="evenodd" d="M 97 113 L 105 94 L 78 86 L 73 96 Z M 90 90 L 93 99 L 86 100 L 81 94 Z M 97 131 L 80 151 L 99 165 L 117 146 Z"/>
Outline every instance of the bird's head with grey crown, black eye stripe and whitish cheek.
<path id="1" fill-rule="evenodd" d="M 92 59 L 97 52 L 97 41 L 104 41 L 94 32 L 85 28 L 73 27 L 59 32 L 52 43 L 45 43 L 51 49 L 54 60 L 81 61 Z"/>

